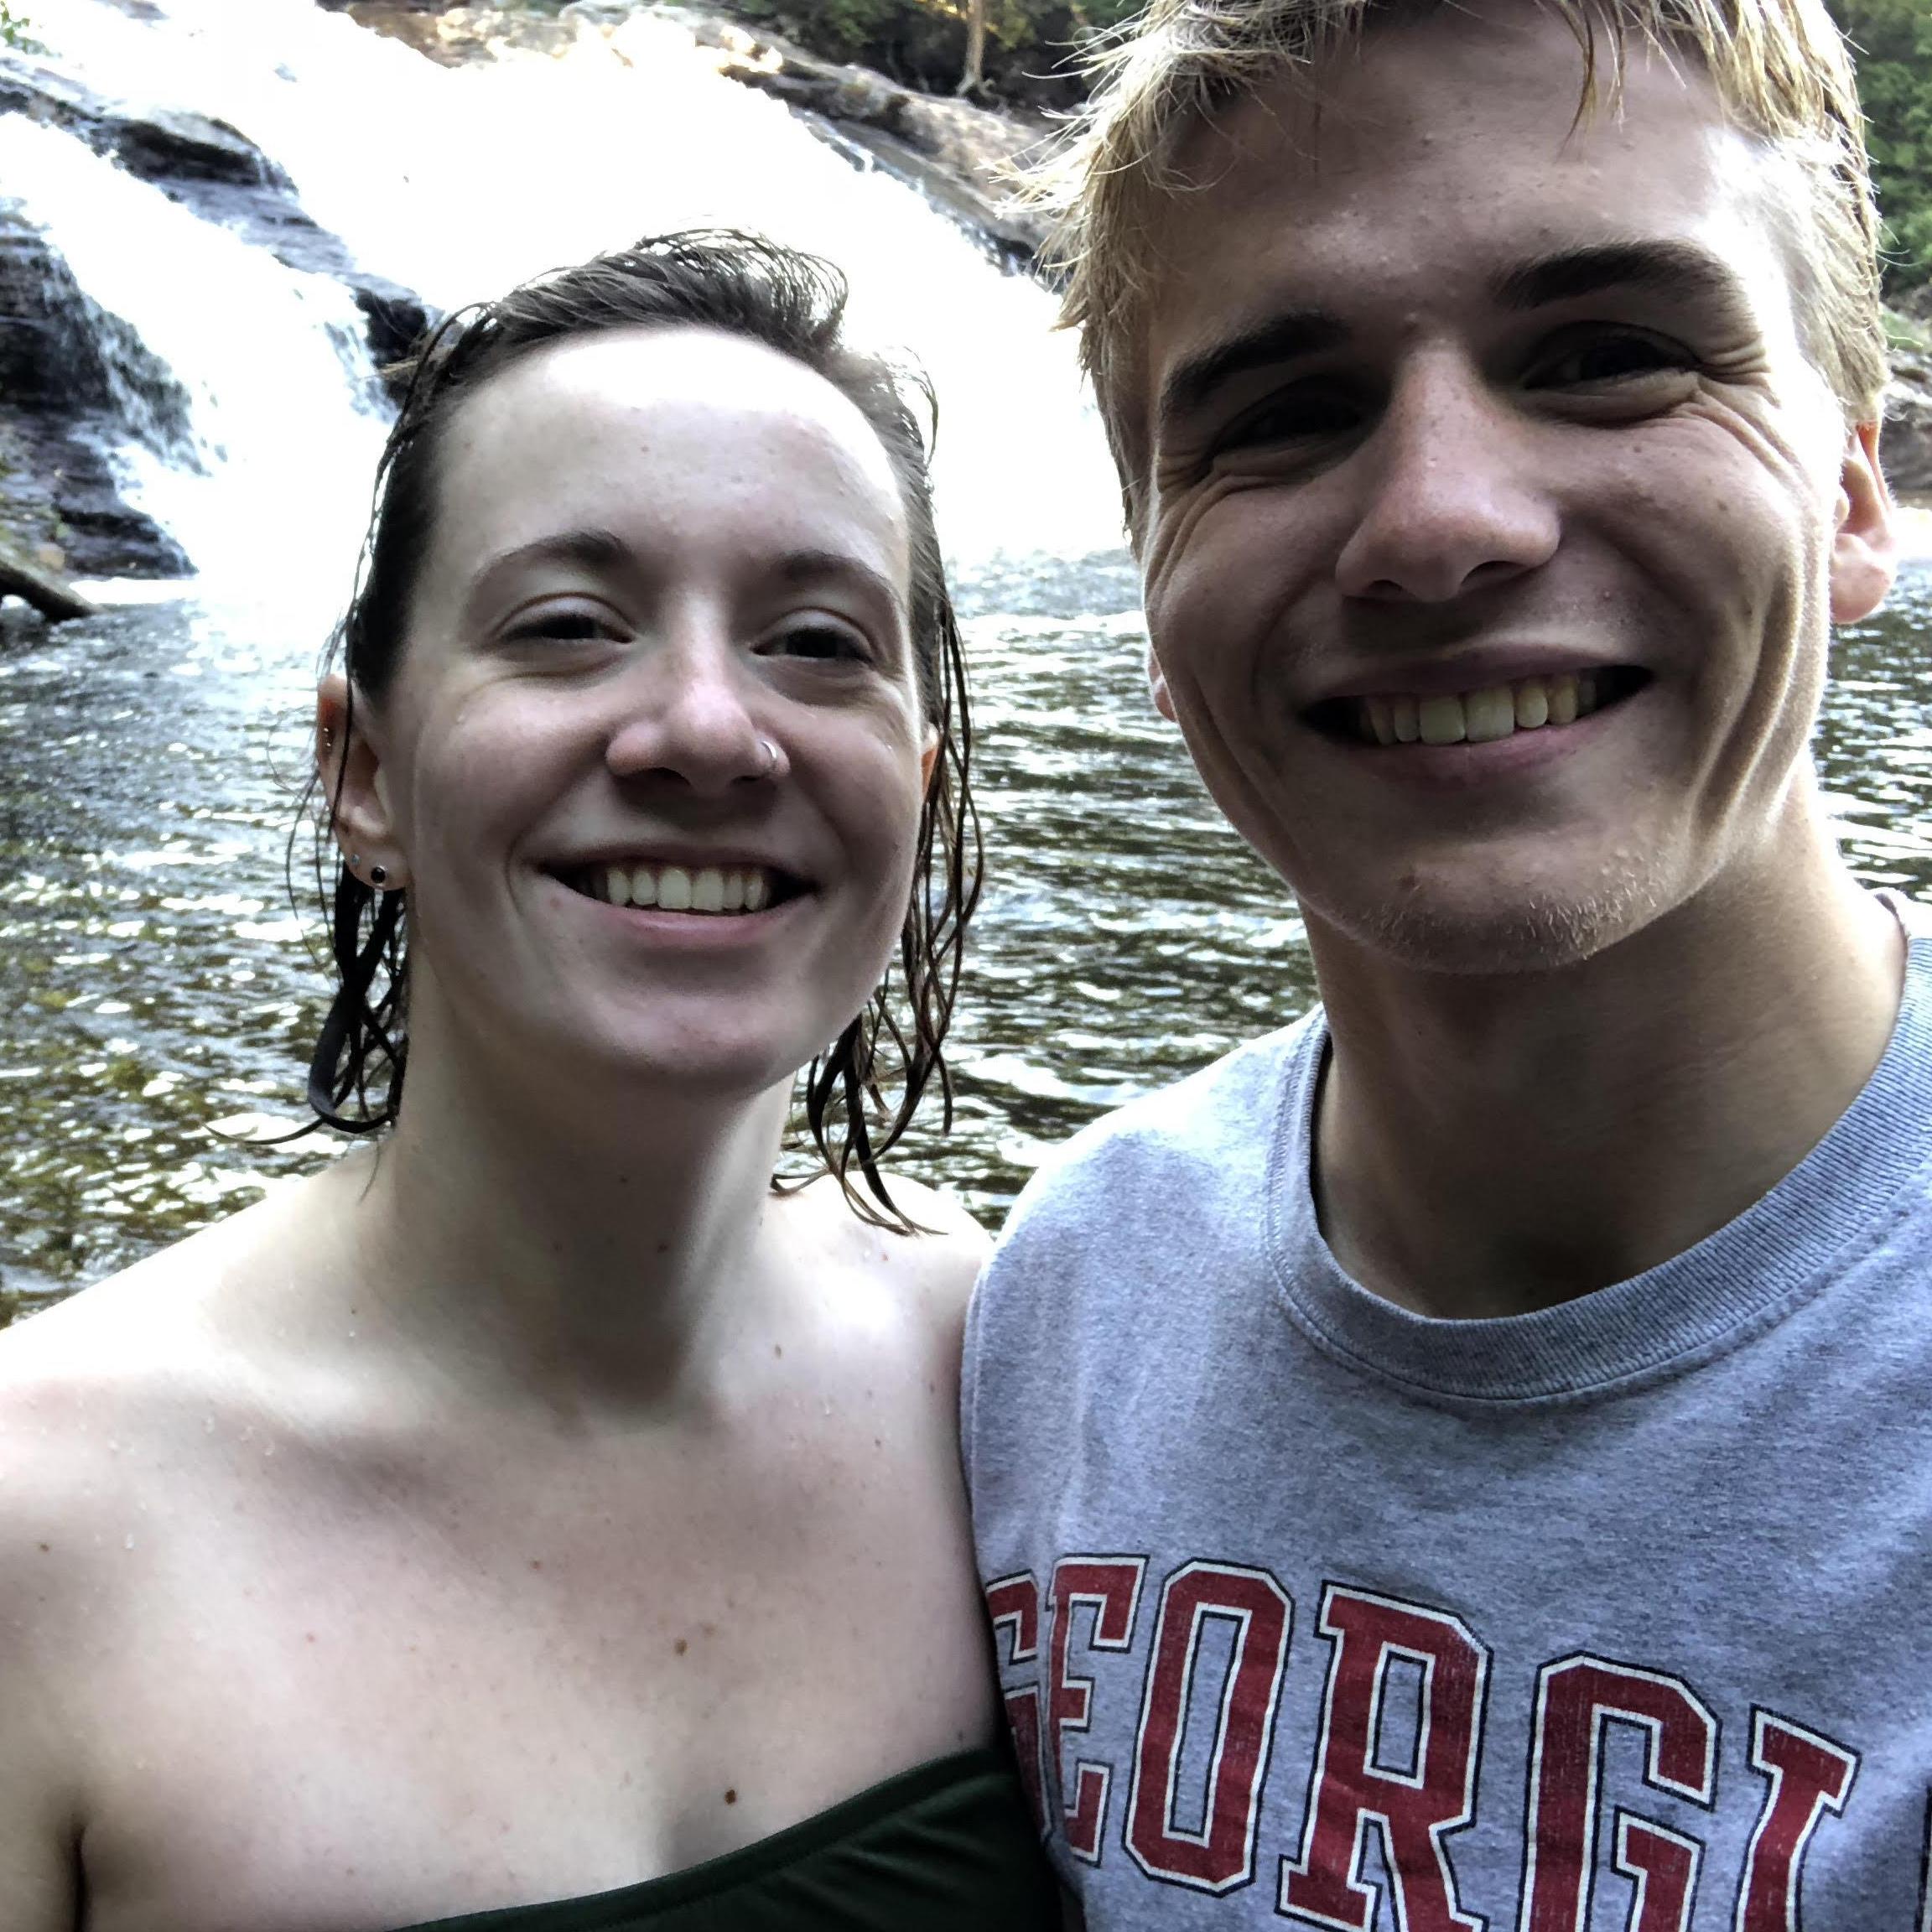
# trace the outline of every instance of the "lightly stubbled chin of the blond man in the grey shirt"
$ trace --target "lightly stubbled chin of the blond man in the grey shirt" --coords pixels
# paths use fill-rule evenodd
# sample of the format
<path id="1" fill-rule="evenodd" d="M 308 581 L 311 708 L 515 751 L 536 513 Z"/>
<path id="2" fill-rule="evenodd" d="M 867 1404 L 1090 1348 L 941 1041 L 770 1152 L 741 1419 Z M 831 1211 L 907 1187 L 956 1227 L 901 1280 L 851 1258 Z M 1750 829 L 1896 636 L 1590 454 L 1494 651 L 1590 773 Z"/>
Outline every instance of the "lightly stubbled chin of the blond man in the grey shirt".
<path id="1" fill-rule="evenodd" d="M 1654 881 L 1615 877 L 1594 893 L 1546 883 L 1517 893 L 1501 879 L 1457 889 L 1403 881 L 1376 896 L 1302 895 L 1316 937 L 1327 927 L 1350 949 L 1412 972 L 1534 974 L 1578 966 L 1648 925 L 1662 910 Z"/>

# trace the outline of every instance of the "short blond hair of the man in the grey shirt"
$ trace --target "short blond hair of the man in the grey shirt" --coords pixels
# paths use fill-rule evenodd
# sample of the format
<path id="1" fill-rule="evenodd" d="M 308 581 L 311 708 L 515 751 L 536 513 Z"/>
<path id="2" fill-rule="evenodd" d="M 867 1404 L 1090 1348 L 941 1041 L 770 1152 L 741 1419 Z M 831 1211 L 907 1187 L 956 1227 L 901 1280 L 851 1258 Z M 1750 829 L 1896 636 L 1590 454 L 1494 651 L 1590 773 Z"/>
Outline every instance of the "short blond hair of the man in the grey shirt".
<path id="1" fill-rule="evenodd" d="M 1188 135 L 1260 87 L 1320 97 L 1318 62 L 1385 21 L 1455 0 L 1151 0 L 1090 62 L 1094 93 L 1026 195 L 1045 209 L 1045 261 L 1065 278 L 1061 319 L 1080 334 L 1134 522 L 1146 454 L 1130 412 L 1155 224 L 1190 185 Z M 1804 348 L 1847 423 L 1876 421 L 1888 381 L 1878 294 L 1880 222 L 1864 116 L 1845 39 L 1824 0 L 1536 0 L 1582 50 L 1578 120 L 1615 110 L 1634 48 L 1690 60 L 1729 118 L 1785 155 L 1799 193 L 1793 296 Z"/>

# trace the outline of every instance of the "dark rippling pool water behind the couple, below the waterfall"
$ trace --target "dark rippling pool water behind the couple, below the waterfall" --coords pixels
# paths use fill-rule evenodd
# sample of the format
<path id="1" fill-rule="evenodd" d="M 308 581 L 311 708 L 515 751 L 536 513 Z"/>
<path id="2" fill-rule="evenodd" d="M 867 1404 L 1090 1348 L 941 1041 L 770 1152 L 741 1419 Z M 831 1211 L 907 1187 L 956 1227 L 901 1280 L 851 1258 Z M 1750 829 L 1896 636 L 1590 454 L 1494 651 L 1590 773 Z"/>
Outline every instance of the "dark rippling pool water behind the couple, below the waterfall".
<path id="1" fill-rule="evenodd" d="M 1061 580 L 1088 609 L 1119 574 Z M 1078 591 L 1078 595 L 1072 595 Z M 1150 709 L 1136 614 L 978 585 L 989 885 L 960 1121 L 906 1167 L 987 1219 L 1039 1150 L 1312 997 L 1283 889 Z M 315 639 L 197 605 L 0 618 L 0 1318 L 327 1157 L 296 1119 L 323 980 L 284 848 Z M 1820 755 L 1866 879 L 1932 896 L 1932 572 L 1839 639 Z"/>

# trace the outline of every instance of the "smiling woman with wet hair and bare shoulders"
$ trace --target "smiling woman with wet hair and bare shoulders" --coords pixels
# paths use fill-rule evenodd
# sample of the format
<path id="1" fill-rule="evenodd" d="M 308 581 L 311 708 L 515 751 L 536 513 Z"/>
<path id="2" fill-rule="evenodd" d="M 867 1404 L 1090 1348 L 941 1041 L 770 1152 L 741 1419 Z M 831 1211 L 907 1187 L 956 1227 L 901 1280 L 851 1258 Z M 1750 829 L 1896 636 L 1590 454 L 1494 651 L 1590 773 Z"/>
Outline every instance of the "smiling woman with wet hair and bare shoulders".
<path id="1" fill-rule="evenodd" d="M 0 1343 L 15 1932 L 1057 1924 L 954 1449 L 981 1242 L 867 1124 L 970 817 L 840 305 L 674 236 L 419 359 L 319 703 L 311 1097 L 390 1132 Z"/>

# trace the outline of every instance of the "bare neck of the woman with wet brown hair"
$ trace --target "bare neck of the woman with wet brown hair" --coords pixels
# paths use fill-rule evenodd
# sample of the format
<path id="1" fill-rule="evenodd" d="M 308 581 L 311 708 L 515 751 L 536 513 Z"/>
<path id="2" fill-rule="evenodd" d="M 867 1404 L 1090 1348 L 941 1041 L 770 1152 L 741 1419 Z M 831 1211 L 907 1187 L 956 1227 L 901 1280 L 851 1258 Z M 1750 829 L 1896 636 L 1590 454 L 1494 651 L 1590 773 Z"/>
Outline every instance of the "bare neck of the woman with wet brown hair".
<path id="1" fill-rule="evenodd" d="M 425 1018 L 355 1215 L 398 1345 L 498 1403 L 701 1403 L 771 1289 L 788 1084 L 719 1099 L 537 1082 Z"/>

